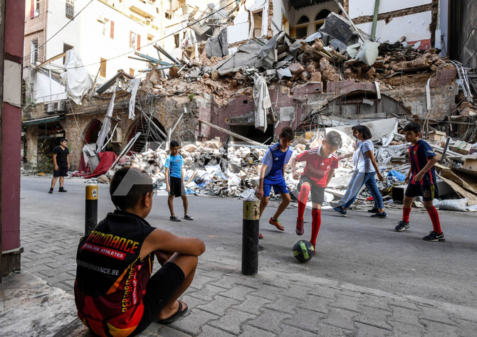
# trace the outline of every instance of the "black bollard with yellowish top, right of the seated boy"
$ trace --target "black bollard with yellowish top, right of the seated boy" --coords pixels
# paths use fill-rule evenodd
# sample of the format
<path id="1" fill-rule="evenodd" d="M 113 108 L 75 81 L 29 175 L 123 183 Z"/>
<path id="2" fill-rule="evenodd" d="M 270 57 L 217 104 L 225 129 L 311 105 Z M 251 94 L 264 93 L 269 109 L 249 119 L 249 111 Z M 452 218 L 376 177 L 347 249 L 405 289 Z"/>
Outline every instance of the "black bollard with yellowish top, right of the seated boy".
<path id="1" fill-rule="evenodd" d="M 258 272 L 258 224 L 260 201 L 256 198 L 243 200 L 242 274 Z"/>

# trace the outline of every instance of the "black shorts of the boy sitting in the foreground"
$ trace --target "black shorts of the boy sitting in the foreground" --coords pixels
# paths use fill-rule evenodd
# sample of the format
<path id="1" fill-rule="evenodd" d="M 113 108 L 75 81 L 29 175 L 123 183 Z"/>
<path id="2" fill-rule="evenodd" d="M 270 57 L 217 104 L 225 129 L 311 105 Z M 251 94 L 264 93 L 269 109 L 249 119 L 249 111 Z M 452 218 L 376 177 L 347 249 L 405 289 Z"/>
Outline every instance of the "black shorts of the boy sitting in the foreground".
<path id="1" fill-rule="evenodd" d="M 172 294 L 184 282 L 185 275 L 177 264 L 166 262 L 147 282 L 146 294 L 142 298 L 144 313 L 140 323 L 130 336 L 136 336 L 159 318 L 164 304 L 169 301 Z"/>

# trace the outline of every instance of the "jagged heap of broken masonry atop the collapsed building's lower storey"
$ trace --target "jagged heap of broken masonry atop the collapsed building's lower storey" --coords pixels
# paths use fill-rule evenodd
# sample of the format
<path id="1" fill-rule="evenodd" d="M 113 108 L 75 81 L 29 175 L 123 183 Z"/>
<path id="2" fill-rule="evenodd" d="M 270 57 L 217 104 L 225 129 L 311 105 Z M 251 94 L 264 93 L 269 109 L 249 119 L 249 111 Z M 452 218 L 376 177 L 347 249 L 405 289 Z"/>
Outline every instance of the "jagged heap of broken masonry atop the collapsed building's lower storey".
<path id="1" fill-rule="evenodd" d="M 236 46 L 232 55 L 210 51 L 222 46 L 220 36 L 210 38 L 201 46 L 199 58 L 171 58 L 174 65 L 167 75 L 153 67 L 143 87 L 154 95 L 169 97 L 208 93 L 223 105 L 239 95 L 251 95 L 257 73 L 266 77 L 268 84 L 280 82 L 287 87 L 335 80 L 379 80 L 398 87 L 423 85 L 441 70 L 456 69 L 448 58 L 439 57 L 438 50 L 419 50 L 405 39 L 371 42 L 365 33 L 355 31 L 350 21 L 331 13 L 320 30 L 307 38 L 291 38 L 281 31 L 270 40 L 246 41 Z M 214 43 L 219 47 L 214 48 Z M 161 52 L 167 54 L 162 48 Z"/>

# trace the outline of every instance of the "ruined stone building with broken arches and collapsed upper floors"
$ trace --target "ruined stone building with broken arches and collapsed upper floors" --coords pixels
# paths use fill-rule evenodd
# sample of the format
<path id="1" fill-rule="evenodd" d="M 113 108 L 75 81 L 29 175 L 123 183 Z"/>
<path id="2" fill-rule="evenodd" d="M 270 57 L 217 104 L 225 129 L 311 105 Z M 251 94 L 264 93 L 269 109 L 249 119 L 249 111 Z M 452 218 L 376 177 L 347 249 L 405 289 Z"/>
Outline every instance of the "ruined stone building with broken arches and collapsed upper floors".
<path id="1" fill-rule="evenodd" d="M 105 149 L 117 155 L 139 130 L 133 151 L 167 139 L 219 137 L 266 145 L 285 126 L 306 138 L 320 127 L 399 118 L 420 120 L 426 132 L 458 137 L 475 124 L 471 98 L 463 97 L 470 104 L 468 115 L 457 105 L 462 85 L 468 97 L 475 94 L 472 80 L 463 84 L 464 70 L 442 47 L 444 21 L 451 20 L 444 1 L 441 8 L 430 0 L 152 2 L 157 6 L 152 22 L 164 28 L 163 36 L 151 38 L 149 49 L 117 59 L 140 63 L 135 67 L 142 72 L 128 73 L 130 67 L 118 64 L 81 105 L 65 98 L 58 101 L 61 109 L 49 113 L 48 100 L 24 109 L 25 161 L 38 162 L 42 139 L 66 137 L 73 169 L 87 172 L 83 146 L 97 141 L 114 90 L 112 135 Z M 81 50 L 83 64 L 87 53 Z M 114 75 L 118 70 L 124 71 Z M 90 70 L 90 75 L 94 80 L 96 74 Z M 131 119 L 131 94 L 125 90 L 133 77 L 142 83 Z"/>

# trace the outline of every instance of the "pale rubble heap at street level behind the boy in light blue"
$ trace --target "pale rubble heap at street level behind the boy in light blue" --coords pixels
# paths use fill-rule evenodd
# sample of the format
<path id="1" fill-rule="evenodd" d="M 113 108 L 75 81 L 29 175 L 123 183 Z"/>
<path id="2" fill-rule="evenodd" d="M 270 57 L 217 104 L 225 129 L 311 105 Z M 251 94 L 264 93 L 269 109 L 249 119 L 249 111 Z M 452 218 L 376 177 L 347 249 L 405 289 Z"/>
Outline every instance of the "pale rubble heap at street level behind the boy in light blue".
<path id="1" fill-rule="evenodd" d="M 305 150 L 305 145 L 295 146 L 295 155 Z M 224 145 L 219 139 L 196 141 L 182 146 L 180 154 L 184 159 L 184 183 L 188 194 L 204 193 L 213 196 L 246 196 L 255 193 L 253 188 L 258 187 L 259 169 L 266 149 L 255 147 L 240 147 L 238 149 Z M 165 190 L 164 164 L 167 159 L 164 149 L 149 149 L 142 154 L 133 154 L 120 161 L 115 169 L 122 166 L 133 166 L 145 170 L 150 174 L 154 183 L 154 190 Z M 298 163 L 298 167 L 302 167 Z M 115 171 L 110 170 L 98 177 L 99 183 L 109 183 Z M 291 188 L 295 188 L 298 181 L 294 181 L 290 169 L 287 172 L 287 181 Z M 247 191 L 249 190 L 249 191 Z M 251 191 L 250 191 L 251 190 Z"/>

